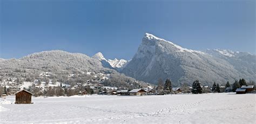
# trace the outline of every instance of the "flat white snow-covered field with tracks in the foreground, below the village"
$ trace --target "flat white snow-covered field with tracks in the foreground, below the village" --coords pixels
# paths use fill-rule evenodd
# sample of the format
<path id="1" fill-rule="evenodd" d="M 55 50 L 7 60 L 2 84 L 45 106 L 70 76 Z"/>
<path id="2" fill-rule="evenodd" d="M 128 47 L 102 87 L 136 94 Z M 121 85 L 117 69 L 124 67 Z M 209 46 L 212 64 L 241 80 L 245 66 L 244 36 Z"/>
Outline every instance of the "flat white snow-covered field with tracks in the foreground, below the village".
<path id="1" fill-rule="evenodd" d="M 90 95 L 0 102 L 0 123 L 255 123 L 256 94 Z"/>

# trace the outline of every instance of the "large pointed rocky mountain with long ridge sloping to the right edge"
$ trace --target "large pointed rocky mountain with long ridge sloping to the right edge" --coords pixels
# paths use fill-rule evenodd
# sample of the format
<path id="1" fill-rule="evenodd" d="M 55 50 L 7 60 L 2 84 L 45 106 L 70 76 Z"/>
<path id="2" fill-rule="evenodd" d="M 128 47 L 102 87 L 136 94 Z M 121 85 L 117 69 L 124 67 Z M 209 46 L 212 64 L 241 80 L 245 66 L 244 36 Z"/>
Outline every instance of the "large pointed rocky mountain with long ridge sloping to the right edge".
<path id="1" fill-rule="evenodd" d="M 230 59 L 230 54 L 213 53 L 184 49 L 146 33 L 137 53 L 120 72 L 153 84 L 159 78 L 171 78 L 174 85 L 192 84 L 196 79 L 203 85 L 211 85 L 213 81 L 224 84 L 239 78 L 256 79 L 255 55 L 234 54 Z"/>

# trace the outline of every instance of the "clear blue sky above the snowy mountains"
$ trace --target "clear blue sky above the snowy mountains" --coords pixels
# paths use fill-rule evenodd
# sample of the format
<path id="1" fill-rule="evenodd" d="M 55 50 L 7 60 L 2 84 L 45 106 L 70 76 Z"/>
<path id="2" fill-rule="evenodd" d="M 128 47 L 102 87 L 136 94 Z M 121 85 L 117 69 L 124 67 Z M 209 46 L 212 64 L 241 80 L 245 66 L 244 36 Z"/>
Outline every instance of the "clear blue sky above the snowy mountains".
<path id="1" fill-rule="evenodd" d="M 131 59 L 146 32 L 187 49 L 256 53 L 254 0 L 0 2 L 0 58 L 64 50 Z"/>

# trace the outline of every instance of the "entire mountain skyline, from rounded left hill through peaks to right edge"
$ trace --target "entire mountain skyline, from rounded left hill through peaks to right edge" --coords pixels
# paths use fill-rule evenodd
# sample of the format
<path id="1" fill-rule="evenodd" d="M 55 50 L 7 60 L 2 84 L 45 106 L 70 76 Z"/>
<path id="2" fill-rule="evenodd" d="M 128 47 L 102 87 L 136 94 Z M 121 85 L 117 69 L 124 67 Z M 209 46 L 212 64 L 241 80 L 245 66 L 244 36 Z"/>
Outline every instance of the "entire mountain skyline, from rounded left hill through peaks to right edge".
<path id="1" fill-rule="evenodd" d="M 239 78 L 255 81 L 256 56 L 231 50 L 189 50 L 146 33 L 130 61 L 106 59 L 100 52 L 89 57 L 59 50 L 33 53 L 20 59 L 0 59 L 0 72 L 15 70 L 31 73 L 123 73 L 129 80 L 152 84 L 157 84 L 158 79 L 170 78 L 174 86 L 192 84 L 196 79 L 203 85 L 211 85 L 213 81 L 224 84 Z"/>

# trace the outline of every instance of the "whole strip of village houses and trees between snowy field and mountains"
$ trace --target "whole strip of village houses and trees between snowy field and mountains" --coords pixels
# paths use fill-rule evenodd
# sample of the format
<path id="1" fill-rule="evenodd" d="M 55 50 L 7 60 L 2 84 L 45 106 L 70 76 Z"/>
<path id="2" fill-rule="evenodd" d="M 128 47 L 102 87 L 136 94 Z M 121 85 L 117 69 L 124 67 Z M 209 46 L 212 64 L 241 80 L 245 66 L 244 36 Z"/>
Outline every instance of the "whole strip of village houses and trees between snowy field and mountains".
<path id="1" fill-rule="evenodd" d="M 235 81 L 233 85 L 227 81 L 225 86 L 213 83 L 213 86 L 201 86 L 201 83 L 196 80 L 192 86 L 182 84 L 180 87 L 173 87 L 170 79 L 166 81 L 158 80 L 158 85 L 141 86 L 131 84 L 130 87 L 111 86 L 110 74 L 86 72 L 88 80 L 73 81 L 73 78 L 78 78 L 79 74 L 68 74 L 68 83 L 63 79 L 56 79 L 52 72 L 42 72 L 35 80 L 30 78 L 14 78 L 1 77 L 0 95 L 15 95 L 15 93 L 23 89 L 31 92 L 33 96 L 53 97 L 53 96 L 72 96 L 72 95 L 164 95 L 164 94 L 180 94 L 180 93 L 221 93 L 221 92 L 237 92 L 246 93 L 250 88 L 250 92 L 255 91 L 255 83 L 247 82 L 245 79 Z M 248 86 L 250 85 L 250 86 Z"/>

